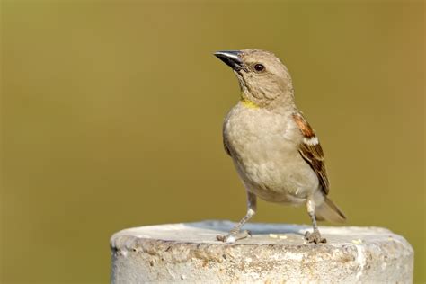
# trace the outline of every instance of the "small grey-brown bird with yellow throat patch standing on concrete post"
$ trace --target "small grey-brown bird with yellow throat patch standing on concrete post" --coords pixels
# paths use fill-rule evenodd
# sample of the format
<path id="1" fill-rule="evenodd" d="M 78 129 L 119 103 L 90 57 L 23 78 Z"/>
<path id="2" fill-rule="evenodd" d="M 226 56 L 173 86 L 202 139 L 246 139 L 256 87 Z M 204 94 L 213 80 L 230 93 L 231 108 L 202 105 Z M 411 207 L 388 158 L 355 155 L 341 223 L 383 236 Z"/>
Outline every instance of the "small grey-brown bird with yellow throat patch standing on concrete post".
<path id="1" fill-rule="evenodd" d="M 217 240 L 233 243 L 250 235 L 241 230 L 256 213 L 257 198 L 305 205 L 312 222 L 307 243 L 326 243 L 317 220 L 342 223 L 346 217 L 329 199 L 330 182 L 319 139 L 297 109 L 288 68 L 262 49 L 217 51 L 235 73 L 240 100 L 223 123 L 223 144 L 247 193 L 245 216 Z"/>

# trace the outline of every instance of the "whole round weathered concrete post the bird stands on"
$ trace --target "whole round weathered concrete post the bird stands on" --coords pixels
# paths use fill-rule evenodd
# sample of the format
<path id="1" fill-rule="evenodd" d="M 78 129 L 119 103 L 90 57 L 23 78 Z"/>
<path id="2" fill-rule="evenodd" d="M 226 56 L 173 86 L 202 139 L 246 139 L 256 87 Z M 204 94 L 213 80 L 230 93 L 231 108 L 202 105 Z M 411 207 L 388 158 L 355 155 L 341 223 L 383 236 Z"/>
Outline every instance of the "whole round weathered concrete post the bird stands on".
<path id="1" fill-rule="evenodd" d="M 379 227 L 322 226 L 327 244 L 306 244 L 310 226 L 247 224 L 253 236 L 216 241 L 234 223 L 141 226 L 111 237 L 112 283 L 411 283 L 413 248 Z"/>

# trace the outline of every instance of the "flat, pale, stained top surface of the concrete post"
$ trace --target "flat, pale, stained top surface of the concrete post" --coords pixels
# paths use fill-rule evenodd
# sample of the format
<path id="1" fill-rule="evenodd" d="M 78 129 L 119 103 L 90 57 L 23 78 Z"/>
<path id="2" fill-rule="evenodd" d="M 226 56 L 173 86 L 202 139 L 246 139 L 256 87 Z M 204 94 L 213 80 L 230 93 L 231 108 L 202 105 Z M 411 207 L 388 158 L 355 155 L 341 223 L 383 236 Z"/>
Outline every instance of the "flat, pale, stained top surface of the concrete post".
<path id="1" fill-rule="evenodd" d="M 196 244 L 223 244 L 217 241 L 217 235 L 224 235 L 235 225 L 230 221 L 204 221 L 196 223 L 180 223 L 156 226 L 139 226 L 122 230 L 111 237 L 111 245 L 120 247 L 123 240 L 155 239 Z M 307 230 L 312 226 L 288 224 L 247 223 L 244 229 L 252 233 L 252 237 L 239 240 L 236 244 L 280 244 L 280 245 L 313 245 L 304 239 Z M 359 226 L 320 226 L 321 234 L 327 239 L 325 245 L 361 244 L 393 240 L 406 244 L 400 235 L 376 227 Z M 323 244 L 324 245 L 324 244 Z"/>

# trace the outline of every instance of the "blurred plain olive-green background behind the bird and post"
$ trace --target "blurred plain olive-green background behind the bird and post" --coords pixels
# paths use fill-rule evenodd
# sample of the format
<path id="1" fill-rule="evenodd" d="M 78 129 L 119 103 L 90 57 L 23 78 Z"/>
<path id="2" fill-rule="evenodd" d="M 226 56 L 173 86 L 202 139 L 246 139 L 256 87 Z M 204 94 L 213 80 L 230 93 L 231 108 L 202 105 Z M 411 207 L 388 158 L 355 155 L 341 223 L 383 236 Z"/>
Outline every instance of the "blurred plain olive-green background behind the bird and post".
<path id="1" fill-rule="evenodd" d="M 106 283 L 110 236 L 238 220 L 222 147 L 235 75 L 212 52 L 261 48 L 293 75 L 331 197 L 385 226 L 425 281 L 422 2 L 2 1 L 2 283 Z M 261 202 L 257 222 L 309 223 Z"/>

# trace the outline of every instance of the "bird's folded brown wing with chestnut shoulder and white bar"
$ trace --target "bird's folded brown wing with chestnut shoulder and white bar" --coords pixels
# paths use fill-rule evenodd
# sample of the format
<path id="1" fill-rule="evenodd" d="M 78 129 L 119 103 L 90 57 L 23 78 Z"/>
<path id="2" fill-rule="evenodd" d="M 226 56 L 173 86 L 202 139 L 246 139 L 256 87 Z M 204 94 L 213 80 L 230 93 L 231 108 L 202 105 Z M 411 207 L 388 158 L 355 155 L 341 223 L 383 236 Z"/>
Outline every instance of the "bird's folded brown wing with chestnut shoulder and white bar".
<path id="1" fill-rule="evenodd" d="M 324 153 L 315 131 L 305 120 L 301 113 L 293 114 L 293 120 L 296 122 L 297 128 L 303 135 L 302 143 L 299 146 L 298 152 L 309 164 L 323 188 L 324 194 L 327 195 L 330 190 L 330 182 L 328 181 L 327 171 L 324 164 Z"/>

